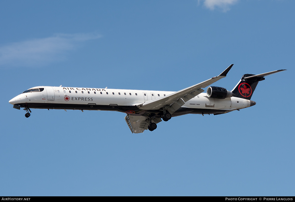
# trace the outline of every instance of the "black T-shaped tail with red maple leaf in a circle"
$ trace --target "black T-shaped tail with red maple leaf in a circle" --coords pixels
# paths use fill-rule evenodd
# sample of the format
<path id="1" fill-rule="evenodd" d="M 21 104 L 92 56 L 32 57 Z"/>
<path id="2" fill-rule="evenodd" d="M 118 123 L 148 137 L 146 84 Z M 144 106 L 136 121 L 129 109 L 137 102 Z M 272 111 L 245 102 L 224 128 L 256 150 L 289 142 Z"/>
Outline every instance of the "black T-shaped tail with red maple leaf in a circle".
<path id="1" fill-rule="evenodd" d="M 240 97 L 247 100 L 250 100 L 253 92 L 258 84 L 258 82 L 265 80 L 265 76 L 268 76 L 270 74 L 274 74 L 277 72 L 284 71 L 286 69 L 276 70 L 273 72 L 267 72 L 264 74 L 244 74 L 239 81 L 239 83 L 236 85 L 236 87 L 232 90 L 232 93 L 234 94 L 234 97 Z"/>

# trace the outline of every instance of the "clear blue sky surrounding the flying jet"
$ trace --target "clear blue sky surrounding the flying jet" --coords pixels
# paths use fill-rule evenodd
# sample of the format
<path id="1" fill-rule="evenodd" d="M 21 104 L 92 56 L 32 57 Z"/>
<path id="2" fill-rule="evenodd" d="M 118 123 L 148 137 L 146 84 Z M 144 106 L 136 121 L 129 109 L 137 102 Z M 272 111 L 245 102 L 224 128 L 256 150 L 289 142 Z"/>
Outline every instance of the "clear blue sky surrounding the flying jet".
<path id="1" fill-rule="evenodd" d="M 1 1 L 1 196 L 294 196 L 291 0 Z M 257 104 L 132 134 L 125 114 L 32 109 L 34 86 L 178 91 L 288 69 Z M 207 90 L 207 89 L 204 89 Z"/>

